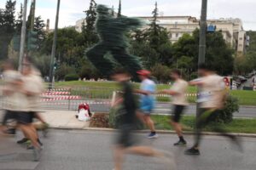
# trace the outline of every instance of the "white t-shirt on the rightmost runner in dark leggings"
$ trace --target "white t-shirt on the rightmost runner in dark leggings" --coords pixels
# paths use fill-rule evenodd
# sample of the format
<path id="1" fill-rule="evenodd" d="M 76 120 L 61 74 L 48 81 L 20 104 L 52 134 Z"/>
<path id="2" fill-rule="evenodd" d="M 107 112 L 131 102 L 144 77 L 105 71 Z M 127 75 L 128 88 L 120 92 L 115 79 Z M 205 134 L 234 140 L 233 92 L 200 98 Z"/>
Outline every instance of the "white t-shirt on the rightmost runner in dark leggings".
<path id="1" fill-rule="evenodd" d="M 202 77 L 201 94 L 198 102 L 202 108 L 221 108 L 224 105 L 223 94 L 225 84 L 223 77 L 216 74 Z"/>

